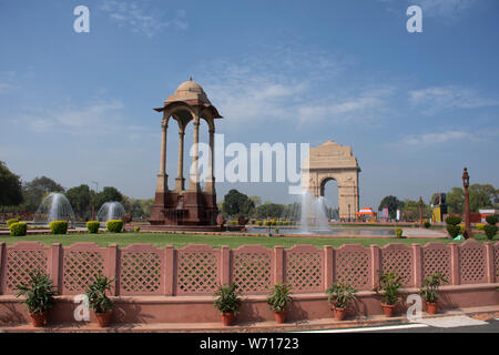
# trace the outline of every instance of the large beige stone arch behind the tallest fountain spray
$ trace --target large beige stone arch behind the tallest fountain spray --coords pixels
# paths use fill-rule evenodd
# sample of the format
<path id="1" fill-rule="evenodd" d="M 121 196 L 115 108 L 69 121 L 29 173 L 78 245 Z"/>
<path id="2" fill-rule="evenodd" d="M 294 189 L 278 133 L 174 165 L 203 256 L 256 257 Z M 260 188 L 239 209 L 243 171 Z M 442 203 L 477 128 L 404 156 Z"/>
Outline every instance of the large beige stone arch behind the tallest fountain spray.
<path id="1" fill-rule="evenodd" d="M 302 164 L 302 187 L 316 197 L 324 196 L 326 183 L 335 180 L 338 184 L 339 220 L 355 220 L 359 210 L 359 172 L 360 166 L 350 146 L 327 141 L 309 149 Z"/>

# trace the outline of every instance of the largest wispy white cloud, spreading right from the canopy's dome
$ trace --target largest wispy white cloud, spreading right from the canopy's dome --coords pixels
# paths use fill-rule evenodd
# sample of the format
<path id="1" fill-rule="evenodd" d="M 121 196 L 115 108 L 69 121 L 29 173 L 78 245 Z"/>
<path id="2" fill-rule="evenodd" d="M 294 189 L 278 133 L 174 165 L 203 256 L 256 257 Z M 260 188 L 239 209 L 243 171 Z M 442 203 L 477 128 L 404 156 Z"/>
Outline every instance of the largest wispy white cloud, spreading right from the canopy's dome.
<path id="1" fill-rule="evenodd" d="M 385 101 L 394 93 L 388 87 L 343 87 L 338 78 L 352 60 L 337 53 L 295 50 L 293 44 L 259 52 L 265 55 L 202 70 L 200 83 L 206 82 L 210 100 L 231 122 L 366 122 L 386 112 Z"/>

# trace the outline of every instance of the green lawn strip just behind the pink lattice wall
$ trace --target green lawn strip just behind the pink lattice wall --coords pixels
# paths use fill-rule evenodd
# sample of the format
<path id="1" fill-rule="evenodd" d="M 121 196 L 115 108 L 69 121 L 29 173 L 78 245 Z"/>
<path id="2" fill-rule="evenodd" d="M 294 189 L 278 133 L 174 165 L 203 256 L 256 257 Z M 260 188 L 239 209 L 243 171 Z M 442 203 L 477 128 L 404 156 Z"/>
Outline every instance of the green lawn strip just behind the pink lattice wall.
<path id="1" fill-rule="evenodd" d="M 487 241 L 483 235 L 477 235 L 477 240 L 480 242 Z M 266 247 L 273 247 L 281 245 L 284 247 L 291 247 L 295 244 L 313 244 L 322 247 L 324 245 L 342 246 L 343 244 L 361 244 L 369 246 L 371 244 L 386 245 L 388 243 L 404 243 L 410 245 L 413 243 L 426 244 L 428 242 L 452 242 L 449 239 L 439 240 L 421 240 L 421 239 L 328 239 L 328 237 L 283 237 L 283 236 L 242 236 L 242 235 L 204 235 L 204 234 L 172 234 L 172 233 L 100 233 L 100 234 L 67 234 L 67 235 L 27 235 L 27 236 L 0 236 L 0 242 L 6 242 L 8 245 L 22 241 L 35 241 L 45 245 L 52 243 L 61 243 L 62 245 L 71 245 L 77 242 L 94 242 L 101 246 L 109 244 L 118 244 L 119 246 L 126 246 L 133 243 L 150 243 L 159 247 L 165 245 L 173 245 L 175 247 L 182 247 L 186 244 L 210 244 L 214 247 L 222 245 L 228 245 L 231 247 L 237 247 L 244 244 L 261 244 Z M 495 242 L 499 241 L 499 235 L 496 235 Z M 461 243 L 461 241 L 456 241 Z"/>

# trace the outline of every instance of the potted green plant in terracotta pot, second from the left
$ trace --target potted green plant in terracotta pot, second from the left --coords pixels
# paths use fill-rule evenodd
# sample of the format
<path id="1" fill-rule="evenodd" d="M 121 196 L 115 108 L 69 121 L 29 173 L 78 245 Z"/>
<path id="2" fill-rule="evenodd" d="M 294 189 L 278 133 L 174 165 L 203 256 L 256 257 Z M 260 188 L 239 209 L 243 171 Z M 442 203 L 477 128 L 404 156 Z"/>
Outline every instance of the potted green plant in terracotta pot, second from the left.
<path id="1" fill-rule="evenodd" d="M 93 283 L 85 291 L 90 307 L 95 312 L 99 326 L 101 327 L 109 325 L 113 314 L 113 303 L 105 294 L 106 291 L 111 290 L 111 283 L 113 282 L 114 280 L 99 274 L 95 275 Z"/>

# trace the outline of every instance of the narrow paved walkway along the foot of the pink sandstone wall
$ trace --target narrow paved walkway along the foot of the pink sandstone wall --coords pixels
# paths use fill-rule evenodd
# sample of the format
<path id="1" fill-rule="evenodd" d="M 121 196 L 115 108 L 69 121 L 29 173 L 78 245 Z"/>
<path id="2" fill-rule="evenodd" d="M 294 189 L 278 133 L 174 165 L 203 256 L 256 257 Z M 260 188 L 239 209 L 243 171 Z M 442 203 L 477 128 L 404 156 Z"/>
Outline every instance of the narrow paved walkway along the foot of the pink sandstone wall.
<path id="1" fill-rule="evenodd" d="M 469 316 L 478 321 L 486 321 L 499 317 L 498 306 L 473 307 L 446 311 L 437 315 L 428 315 L 422 313 L 422 321 L 418 323 L 437 322 L 439 318 L 454 316 L 461 317 Z M 456 320 L 456 318 L 455 318 Z M 445 321 L 449 322 L 449 321 Z M 452 320 L 450 318 L 450 322 Z M 456 323 L 457 321 L 455 321 Z M 461 320 L 462 322 L 462 320 Z M 28 324 L 18 324 L 10 326 L 0 326 L 0 332 L 48 332 L 48 333 L 275 333 L 275 332 L 313 332 L 313 333 L 328 333 L 332 329 L 345 329 L 345 332 L 353 332 L 360 327 L 379 327 L 406 324 L 407 326 L 415 326 L 405 315 L 386 318 L 383 315 L 363 317 L 356 320 L 346 320 L 337 322 L 333 318 L 291 322 L 285 324 L 277 324 L 276 322 L 256 322 L 248 324 L 236 324 L 225 327 L 221 323 L 154 323 L 154 324 L 114 324 L 108 328 L 100 328 L 96 324 L 49 324 L 42 328 L 34 328 Z M 458 324 L 458 323 L 456 323 Z M 387 328 L 389 329 L 389 328 Z"/>

